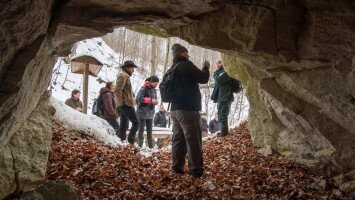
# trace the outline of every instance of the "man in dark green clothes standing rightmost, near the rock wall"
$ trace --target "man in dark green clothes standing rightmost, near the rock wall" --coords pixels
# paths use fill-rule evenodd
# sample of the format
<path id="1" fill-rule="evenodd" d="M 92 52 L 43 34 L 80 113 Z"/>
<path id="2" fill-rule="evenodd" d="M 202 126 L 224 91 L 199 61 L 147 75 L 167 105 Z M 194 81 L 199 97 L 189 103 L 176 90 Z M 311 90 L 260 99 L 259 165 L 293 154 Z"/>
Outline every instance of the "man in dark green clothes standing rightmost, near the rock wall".
<path id="1" fill-rule="evenodd" d="M 215 80 L 215 87 L 211 95 L 211 99 L 217 103 L 218 120 L 221 126 L 221 132 L 219 136 L 228 135 L 228 115 L 231 107 L 231 103 L 234 101 L 234 95 L 232 86 L 230 84 L 231 78 L 224 71 L 222 61 L 217 61 L 217 70 L 213 74 Z"/>

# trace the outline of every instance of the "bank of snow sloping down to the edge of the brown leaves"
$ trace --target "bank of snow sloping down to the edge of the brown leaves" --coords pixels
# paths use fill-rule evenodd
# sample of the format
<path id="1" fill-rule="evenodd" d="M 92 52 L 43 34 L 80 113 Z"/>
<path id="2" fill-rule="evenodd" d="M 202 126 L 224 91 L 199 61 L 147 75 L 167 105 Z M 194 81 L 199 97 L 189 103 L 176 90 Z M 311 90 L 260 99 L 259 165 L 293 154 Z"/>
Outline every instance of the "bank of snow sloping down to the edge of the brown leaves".
<path id="1" fill-rule="evenodd" d="M 110 146 L 123 145 L 113 128 L 104 119 L 78 112 L 54 97 L 51 98 L 51 104 L 56 109 L 54 119 L 68 130 L 82 131 Z"/>

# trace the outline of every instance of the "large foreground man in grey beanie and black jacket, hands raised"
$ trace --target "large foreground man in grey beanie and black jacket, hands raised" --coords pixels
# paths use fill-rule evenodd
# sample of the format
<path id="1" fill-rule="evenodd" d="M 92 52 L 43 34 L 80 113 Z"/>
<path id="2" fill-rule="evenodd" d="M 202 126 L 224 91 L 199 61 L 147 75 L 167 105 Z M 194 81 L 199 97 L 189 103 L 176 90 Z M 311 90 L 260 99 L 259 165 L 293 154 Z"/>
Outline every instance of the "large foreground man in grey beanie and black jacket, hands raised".
<path id="1" fill-rule="evenodd" d="M 191 61 L 185 47 L 172 46 L 174 56 L 174 97 L 171 104 L 173 120 L 172 171 L 183 174 L 185 156 L 188 154 L 188 166 L 193 177 L 200 177 L 204 172 L 202 158 L 202 133 L 200 126 L 201 93 L 198 84 L 208 82 L 209 63 L 205 62 L 202 70 Z"/>

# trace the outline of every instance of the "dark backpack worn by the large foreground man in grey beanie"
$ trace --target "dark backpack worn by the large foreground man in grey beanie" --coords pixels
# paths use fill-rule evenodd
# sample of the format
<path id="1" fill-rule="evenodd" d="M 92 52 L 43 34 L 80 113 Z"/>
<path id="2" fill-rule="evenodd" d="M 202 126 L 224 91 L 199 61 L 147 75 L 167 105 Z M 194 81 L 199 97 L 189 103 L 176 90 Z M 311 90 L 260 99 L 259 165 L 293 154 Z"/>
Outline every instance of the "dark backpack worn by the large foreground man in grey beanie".
<path id="1" fill-rule="evenodd" d="M 180 63 L 177 63 L 175 66 L 170 68 L 163 76 L 163 80 L 159 84 L 161 100 L 165 103 L 172 103 L 175 99 L 174 94 L 174 72 L 177 66 Z"/>

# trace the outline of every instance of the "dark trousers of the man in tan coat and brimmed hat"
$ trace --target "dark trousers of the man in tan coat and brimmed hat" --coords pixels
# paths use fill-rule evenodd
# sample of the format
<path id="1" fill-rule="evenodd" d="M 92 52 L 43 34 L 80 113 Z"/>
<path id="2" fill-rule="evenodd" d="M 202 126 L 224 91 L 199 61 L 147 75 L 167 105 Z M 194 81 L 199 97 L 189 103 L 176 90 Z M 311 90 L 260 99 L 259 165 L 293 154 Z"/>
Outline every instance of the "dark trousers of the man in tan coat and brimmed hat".
<path id="1" fill-rule="evenodd" d="M 130 121 L 132 123 L 132 127 L 128 134 L 128 142 L 133 144 L 139 126 L 139 121 L 136 115 L 136 111 L 134 110 L 133 107 L 129 107 L 126 105 L 120 106 L 119 108 L 121 113 L 121 119 L 120 119 L 121 127 L 120 127 L 119 138 L 121 138 L 122 141 L 126 140 L 127 137 L 126 131 L 128 129 L 128 125 Z"/>

